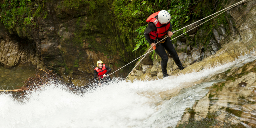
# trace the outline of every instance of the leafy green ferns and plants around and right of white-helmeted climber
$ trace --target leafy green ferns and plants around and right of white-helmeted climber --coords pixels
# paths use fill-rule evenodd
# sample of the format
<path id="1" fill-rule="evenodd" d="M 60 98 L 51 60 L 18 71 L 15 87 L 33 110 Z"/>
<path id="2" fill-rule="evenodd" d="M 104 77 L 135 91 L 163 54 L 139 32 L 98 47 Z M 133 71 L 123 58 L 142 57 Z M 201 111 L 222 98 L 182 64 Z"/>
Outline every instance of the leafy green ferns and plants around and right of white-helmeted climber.
<path id="1" fill-rule="evenodd" d="M 167 1 L 167 0 L 159 0 L 159 1 L 140 1 L 140 4 L 137 4 L 137 10 L 134 11 L 134 15 L 138 15 L 140 17 L 143 17 L 140 23 L 144 23 L 143 26 L 139 27 L 135 32 L 138 32 L 138 35 L 135 39 L 136 46 L 134 47 L 133 51 L 136 51 L 137 49 L 140 50 L 146 50 L 150 45 L 148 45 L 147 41 L 144 39 L 143 31 L 147 27 L 147 23 L 145 22 L 145 19 L 150 16 L 150 14 L 160 11 L 160 10 L 168 10 L 168 12 L 171 14 L 171 24 L 173 26 L 173 31 L 179 30 L 180 28 L 193 23 L 194 21 L 204 18 L 206 16 L 209 16 L 216 11 L 219 11 L 222 9 L 222 6 L 220 4 L 217 4 L 218 2 L 221 2 L 219 0 L 215 1 L 207 1 L 207 0 L 177 0 L 177 1 Z M 205 19 L 206 21 L 207 19 Z M 196 38 L 198 38 L 198 41 L 191 40 L 190 43 L 187 45 L 191 45 L 192 47 L 195 47 L 199 45 L 199 47 L 204 46 L 204 49 L 210 49 L 209 43 L 211 38 L 213 37 L 213 28 L 218 28 L 221 24 L 224 25 L 224 27 L 227 29 L 228 23 L 225 18 L 225 14 L 222 14 L 221 16 L 218 16 L 214 20 L 211 20 L 202 26 L 200 26 L 201 31 L 196 34 L 198 35 Z M 173 34 L 172 38 L 177 37 L 178 35 L 186 32 L 186 29 L 183 29 L 183 31 L 177 31 Z M 186 35 L 186 33 L 185 33 Z M 186 35 L 187 36 L 187 35 Z M 188 39 L 188 36 L 187 36 Z M 176 42 L 176 39 L 174 40 L 174 44 Z M 197 42 L 197 43 L 196 43 Z M 185 52 L 183 49 L 182 51 Z"/>

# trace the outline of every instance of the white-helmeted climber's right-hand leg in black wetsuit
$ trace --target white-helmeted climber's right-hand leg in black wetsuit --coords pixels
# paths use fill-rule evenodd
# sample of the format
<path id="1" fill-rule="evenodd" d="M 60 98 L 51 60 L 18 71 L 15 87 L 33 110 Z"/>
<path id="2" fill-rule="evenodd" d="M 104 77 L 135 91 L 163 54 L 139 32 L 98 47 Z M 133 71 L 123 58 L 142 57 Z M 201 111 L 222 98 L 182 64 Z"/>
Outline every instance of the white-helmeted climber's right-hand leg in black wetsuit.
<path id="1" fill-rule="evenodd" d="M 162 45 L 166 49 L 166 51 L 168 51 L 171 54 L 172 59 L 174 60 L 176 65 L 179 67 L 179 69 L 183 70 L 184 67 L 182 66 L 180 58 L 179 58 L 178 54 L 176 53 L 175 48 L 173 47 L 171 40 L 169 38 L 167 38 L 166 41 L 164 43 L 162 43 Z"/>

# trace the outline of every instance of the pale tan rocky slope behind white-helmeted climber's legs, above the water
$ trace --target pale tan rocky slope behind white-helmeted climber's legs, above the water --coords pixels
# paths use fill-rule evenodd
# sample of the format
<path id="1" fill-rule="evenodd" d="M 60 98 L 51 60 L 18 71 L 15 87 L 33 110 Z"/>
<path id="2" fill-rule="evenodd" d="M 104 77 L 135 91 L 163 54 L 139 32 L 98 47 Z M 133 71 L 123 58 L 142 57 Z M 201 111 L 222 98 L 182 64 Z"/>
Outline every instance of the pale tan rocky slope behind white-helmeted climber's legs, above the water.
<path id="1" fill-rule="evenodd" d="M 227 8 L 236 2 L 238 1 L 228 0 L 220 1 L 219 4 L 223 8 Z M 256 45 L 255 5 L 255 1 L 246 1 L 223 13 L 220 17 L 214 18 L 212 22 L 205 23 L 174 41 L 174 47 L 186 68 L 180 71 L 169 56 L 168 74 L 197 72 L 234 61 L 238 56 L 253 51 Z M 188 27 L 186 31 L 201 23 Z M 160 61 L 161 58 L 156 54 L 153 65 L 149 65 L 147 61 L 142 61 L 139 67 L 136 67 L 128 76 L 127 80 L 162 79 Z"/>

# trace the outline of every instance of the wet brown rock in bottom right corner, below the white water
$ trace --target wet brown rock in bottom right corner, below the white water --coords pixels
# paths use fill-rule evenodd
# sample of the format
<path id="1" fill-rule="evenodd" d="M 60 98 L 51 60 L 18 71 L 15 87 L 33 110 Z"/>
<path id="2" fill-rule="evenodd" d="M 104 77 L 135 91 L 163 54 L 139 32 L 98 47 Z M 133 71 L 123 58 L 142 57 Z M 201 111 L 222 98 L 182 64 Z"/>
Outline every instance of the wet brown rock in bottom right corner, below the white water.
<path id="1" fill-rule="evenodd" d="M 254 55 L 255 56 L 255 55 Z M 226 72 L 202 80 L 225 80 L 209 88 L 208 94 L 187 109 L 177 124 L 178 128 L 195 127 L 256 127 L 255 119 L 255 62 L 233 67 Z"/>

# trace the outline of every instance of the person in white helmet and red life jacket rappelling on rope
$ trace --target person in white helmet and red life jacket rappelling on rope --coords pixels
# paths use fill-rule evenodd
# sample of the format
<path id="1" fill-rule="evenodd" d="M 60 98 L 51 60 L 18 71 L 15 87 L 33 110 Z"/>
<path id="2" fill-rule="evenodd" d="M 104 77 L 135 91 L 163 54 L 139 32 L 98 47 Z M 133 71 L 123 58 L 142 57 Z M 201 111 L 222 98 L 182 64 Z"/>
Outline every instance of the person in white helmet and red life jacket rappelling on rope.
<path id="1" fill-rule="evenodd" d="M 168 56 L 165 52 L 165 49 L 168 51 L 169 54 L 171 54 L 172 59 L 176 63 L 176 65 L 179 67 L 180 70 L 183 70 L 184 67 L 182 66 L 182 63 L 179 59 L 179 56 L 177 55 L 172 42 L 169 38 L 166 38 L 161 43 L 155 44 L 158 41 L 165 38 L 165 36 L 172 36 L 172 25 L 170 23 L 171 15 L 166 11 L 162 10 L 156 13 L 153 13 L 150 15 L 150 17 L 147 18 L 148 26 L 144 31 L 144 36 L 147 40 L 147 42 L 154 48 L 155 52 L 161 57 L 161 66 L 162 66 L 162 73 L 163 77 L 168 76 L 167 74 L 167 62 L 168 62 Z"/>

